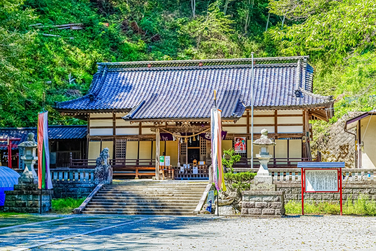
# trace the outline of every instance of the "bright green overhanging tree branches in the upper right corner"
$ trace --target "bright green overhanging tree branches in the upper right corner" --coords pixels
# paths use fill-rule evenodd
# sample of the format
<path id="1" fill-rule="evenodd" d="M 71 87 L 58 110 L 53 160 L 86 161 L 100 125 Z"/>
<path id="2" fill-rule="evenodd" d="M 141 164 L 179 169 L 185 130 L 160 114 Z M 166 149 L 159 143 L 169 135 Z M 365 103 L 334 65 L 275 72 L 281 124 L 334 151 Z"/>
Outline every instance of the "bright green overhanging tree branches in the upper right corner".
<path id="1" fill-rule="evenodd" d="M 311 55 L 327 65 L 375 46 L 373 0 L 271 0 L 271 13 L 298 24 L 270 30 L 287 55 Z M 340 20 L 340 21 L 339 21 Z"/>

